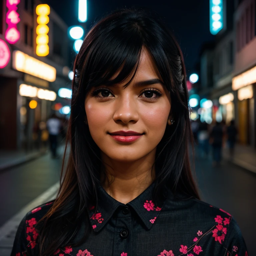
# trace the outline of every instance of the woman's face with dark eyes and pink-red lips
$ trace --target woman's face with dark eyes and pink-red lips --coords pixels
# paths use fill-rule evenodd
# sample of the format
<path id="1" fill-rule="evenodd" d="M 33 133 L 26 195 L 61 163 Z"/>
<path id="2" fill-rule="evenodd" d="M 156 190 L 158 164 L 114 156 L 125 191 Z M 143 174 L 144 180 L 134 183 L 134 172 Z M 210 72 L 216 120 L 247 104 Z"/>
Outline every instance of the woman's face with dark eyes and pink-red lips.
<path id="1" fill-rule="evenodd" d="M 155 156 L 171 102 L 147 50 L 142 51 L 129 86 L 122 88 L 124 84 L 94 87 L 87 94 L 85 111 L 91 136 L 102 154 L 112 160 L 131 162 L 149 153 Z"/>

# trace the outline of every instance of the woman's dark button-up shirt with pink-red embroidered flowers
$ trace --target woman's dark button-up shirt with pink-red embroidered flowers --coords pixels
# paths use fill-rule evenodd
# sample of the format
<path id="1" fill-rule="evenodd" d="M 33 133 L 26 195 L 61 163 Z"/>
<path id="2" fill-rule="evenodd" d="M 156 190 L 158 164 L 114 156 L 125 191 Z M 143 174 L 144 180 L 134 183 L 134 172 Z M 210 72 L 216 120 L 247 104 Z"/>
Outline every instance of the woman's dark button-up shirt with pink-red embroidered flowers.
<path id="1" fill-rule="evenodd" d="M 152 183 L 126 205 L 101 187 L 98 212 L 87 210 L 92 225 L 79 247 L 59 248 L 57 256 L 247 256 L 240 228 L 229 213 L 195 198 L 175 199 L 170 192 L 162 207 L 152 201 Z M 11 256 L 38 256 L 35 224 L 52 202 L 28 212 L 16 233 Z M 87 214 L 86 212 L 86 214 Z M 77 238 L 83 235 L 83 226 Z"/>

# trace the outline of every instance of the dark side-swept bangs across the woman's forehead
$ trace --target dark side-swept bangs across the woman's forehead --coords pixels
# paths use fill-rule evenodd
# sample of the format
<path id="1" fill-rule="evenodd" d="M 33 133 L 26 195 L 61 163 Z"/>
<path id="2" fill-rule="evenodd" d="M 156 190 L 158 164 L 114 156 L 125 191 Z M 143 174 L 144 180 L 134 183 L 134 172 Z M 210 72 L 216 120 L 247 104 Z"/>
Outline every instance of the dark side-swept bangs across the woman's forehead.
<path id="1" fill-rule="evenodd" d="M 115 35 L 115 36 L 113 36 Z M 120 84 L 127 87 L 138 69 L 143 39 L 134 33 L 112 31 L 109 38 L 98 38 L 89 51 L 85 67 L 85 91 L 100 85 Z M 85 39 L 86 40 L 86 39 Z"/>

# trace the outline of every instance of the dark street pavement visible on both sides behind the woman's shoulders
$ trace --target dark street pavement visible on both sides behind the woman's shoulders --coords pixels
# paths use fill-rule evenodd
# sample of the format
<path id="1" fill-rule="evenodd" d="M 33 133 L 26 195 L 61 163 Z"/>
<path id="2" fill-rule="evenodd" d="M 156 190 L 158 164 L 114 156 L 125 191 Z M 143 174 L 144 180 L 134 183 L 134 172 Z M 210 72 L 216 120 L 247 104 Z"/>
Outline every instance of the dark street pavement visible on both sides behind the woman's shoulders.
<path id="1" fill-rule="evenodd" d="M 195 177 L 201 199 L 234 216 L 254 255 L 256 230 L 256 174 L 223 161 L 195 158 Z M 49 154 L 0 172 L 0 255 L 9 256 L 17 226 L 26 212 L 55 197 L 61 159 Z M 254 239 L 253 239 L 254 238 Z"/>

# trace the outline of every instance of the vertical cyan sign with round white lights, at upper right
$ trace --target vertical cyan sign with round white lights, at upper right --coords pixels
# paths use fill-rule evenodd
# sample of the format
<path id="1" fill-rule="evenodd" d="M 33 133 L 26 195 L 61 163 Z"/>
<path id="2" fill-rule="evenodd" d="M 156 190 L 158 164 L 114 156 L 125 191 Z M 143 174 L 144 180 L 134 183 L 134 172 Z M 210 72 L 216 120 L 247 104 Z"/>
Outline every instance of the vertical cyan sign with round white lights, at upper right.
<path id="1" fill-rule="evenodd" d="M 210 0 L 210 32 L 216 35 L 223 28 L 223 0 Z"/>

